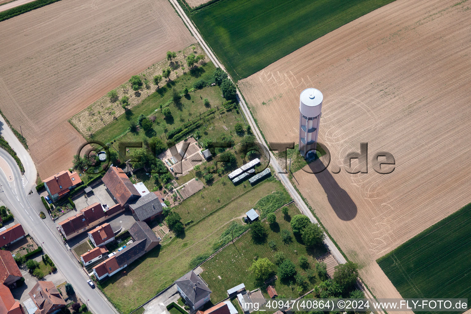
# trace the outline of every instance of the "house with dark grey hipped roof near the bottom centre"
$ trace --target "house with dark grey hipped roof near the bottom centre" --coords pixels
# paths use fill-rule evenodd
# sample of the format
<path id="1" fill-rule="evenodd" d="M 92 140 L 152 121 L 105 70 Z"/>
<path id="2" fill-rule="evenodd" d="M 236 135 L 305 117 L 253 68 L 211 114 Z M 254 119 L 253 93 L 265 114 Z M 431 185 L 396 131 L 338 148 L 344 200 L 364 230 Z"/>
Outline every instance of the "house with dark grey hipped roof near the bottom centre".
<path id="1" fill-rule="evenodd" d="M 211 297 L 211 290 L 193 270 L 175 281 L 178 292 L 191 311 L 201 308 Z"/>

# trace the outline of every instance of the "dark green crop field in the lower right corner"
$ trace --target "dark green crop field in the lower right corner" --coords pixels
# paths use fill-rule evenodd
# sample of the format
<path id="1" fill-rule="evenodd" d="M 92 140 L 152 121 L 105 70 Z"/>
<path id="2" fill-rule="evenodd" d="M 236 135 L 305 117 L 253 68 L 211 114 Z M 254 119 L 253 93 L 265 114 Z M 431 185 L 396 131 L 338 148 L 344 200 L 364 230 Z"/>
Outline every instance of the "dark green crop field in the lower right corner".
<path id="1" fill-rule="evenodd" d="M 471 203 L 377 262 L 403 298 L 471 299 L 470 247 Z"/>

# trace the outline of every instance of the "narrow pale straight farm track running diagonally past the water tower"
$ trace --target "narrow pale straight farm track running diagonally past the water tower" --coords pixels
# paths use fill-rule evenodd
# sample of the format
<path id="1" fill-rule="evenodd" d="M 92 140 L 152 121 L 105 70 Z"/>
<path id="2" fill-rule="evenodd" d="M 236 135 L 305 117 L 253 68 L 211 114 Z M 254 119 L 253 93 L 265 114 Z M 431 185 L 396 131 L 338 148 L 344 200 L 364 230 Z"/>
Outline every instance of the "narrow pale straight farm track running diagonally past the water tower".
<path id="1" fill-rule="evenodd" d="M 195 25 L 193 25 L 193 23 L 190 21 L 190 19 L 188 18 L 188 16 L 185 14 L 185 12 L 183 11 L 183 9 L 180 7 L 180 5 L 178 4 L 177 0 L 170 0 L 171 4 L 174 6 L 174 8 L 177 10 L 177 12 L 179 13 L 179 15 L 181 16 L 181 18 L 183 19 L 183 22 L 185 22 L 185 24 L 187 24 L 187 27 L 188 29 L 190 30 L 190 32 L 193 34 L 193 36 L 195 36 L 196 40 L 198 40 L 198 42 L 200 43 L 200 45 L 203 47 L 203 50 L 206 52 L 206 54 L 209 56 L 209 58 L 211 59 L 211 61 L 219 66 L 220 68 L 224 69 L 224 66 L 222 64 L 219 63 L 219 60 L 216 58 L 216 56 L 213 54 L 211 48 L 209 48 L 207 45 L 206 45 L 206 42 L 203 40 L 203 37 L 200 35 L 200 33 L 198 32 L 198 30 L 196 29 Z M 227 72 L 227 71 L 226 71 Z M 257 138 L 257 140 L 259 141 L 259 143 L 261 143 L 262 145 L 265 146 L 265 148 L 268 150 L 268 147 L 267 145 L 265 145 L 265 141 L 263 140 L 263 137 L 261 136 L 260 134 L 260 130 L 258 129 L 257 125 L 255 124 L 255 121 L 253 121 L 253 118 L 252 118 L 252 114 L 250 114 L 249 112 L 249 108 L 247 107 L 247 104 L 245 104 L 245 101 L 244 101 L 244 98 L 240 97 L 239 95 L 242 95 L 239 91 L 239 89 L 237 89 L 237 99 L 239 100 L 239 102 L 241 103 L 241 108 L 242 108 L 242 111 L 244 112 L 245 114 L 245 117 L 247 118 L 248 120 L 248 123 L 250 125 L 250 127 L 252 128 L 252 132 L 253 134 L 255 135 L 255 137 Z M 306 206 L 306 203 L 302 200 L 302 198 L 300 197 L 299 193 L 296 191 L 296 189 L 294 188 L 294 186 L 292 185 L 291 181 L 289 180 L 288 178 L 288 175 L 285 174 L 285 173 L 282 173 L 284 172 L 283 169 L 280 167 L 280 165 L 278 164 L 278 161 L 276 161 L 276 158 L 275 156 L 273 155 L 272 152 L 270 152 L 270 164 L 272 165 L 272 167 L 275 169 L 275 171 L 278 173 L 278 177 L 280 178 L 281 180 L 281 183 L 283 183 L 284 187 L 286 188 L 286 190 L 291 194 L 293 200 L 296 202 L 296 204 L 298 205 L 298 208 L 301 210 L 301 212 L 308 216 L 309 219 L 311 220 L 311 222 L 315 222 L 317 223 L 317 219 L 316 217 L 314 217 L 314 215 L 311 213 L 311 211 L 309 210 L 309 208 Z M 329 248 L 329 250 L 331 251 L 332 255 L 337 259 L 337 261 L 339 263 L 346 263 L 346 259 L 343 257 L 343 255 L 341 254 L 340 250 L 337 249 L 337 247 L 335 246 L 335 244 L 333 244 L 332 240 L 328 237 L 328 235 L 326 234 L 325 235 L 325 244 L 327 245 L 327 247 Z"/>

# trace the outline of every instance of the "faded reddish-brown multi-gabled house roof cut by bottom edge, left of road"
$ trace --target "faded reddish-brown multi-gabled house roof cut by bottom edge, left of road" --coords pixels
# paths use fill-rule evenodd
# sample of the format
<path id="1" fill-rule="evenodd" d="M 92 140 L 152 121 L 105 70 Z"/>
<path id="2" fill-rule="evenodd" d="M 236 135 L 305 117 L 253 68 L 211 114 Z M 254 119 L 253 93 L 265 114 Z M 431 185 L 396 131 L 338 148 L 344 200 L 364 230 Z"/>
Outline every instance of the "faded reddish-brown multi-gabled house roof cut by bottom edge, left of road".
<path id="1" fill-rule="evenodd" d="M 38 307 L 35 314 L 49 314 L 65 306 L 64 299 L 52 282 L 37 282 L 28 294 Z"/>

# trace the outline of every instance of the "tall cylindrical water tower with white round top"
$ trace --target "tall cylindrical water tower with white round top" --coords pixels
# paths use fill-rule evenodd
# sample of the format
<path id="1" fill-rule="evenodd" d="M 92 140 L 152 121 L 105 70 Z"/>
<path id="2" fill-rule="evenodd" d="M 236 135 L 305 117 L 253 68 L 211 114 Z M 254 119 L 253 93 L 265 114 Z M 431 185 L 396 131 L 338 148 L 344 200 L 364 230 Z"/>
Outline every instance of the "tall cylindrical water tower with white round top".
<path id="1" fill-rule="evenodd" d="M 315 155 L 322 109 L 322 93 L 318 89 L 304 89 L 299 97 L 299 151 L 306 158 Z"/>

